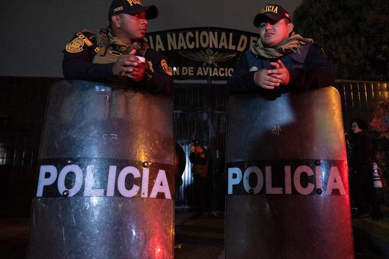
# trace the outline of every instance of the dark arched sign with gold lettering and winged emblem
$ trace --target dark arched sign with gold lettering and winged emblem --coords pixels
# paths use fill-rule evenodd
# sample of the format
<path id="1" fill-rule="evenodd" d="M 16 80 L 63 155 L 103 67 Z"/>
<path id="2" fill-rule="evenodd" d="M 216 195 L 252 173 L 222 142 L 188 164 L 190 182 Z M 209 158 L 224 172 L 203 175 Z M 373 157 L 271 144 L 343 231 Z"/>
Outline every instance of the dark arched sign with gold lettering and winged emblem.
<path id="1" fill-rule="evenodd" d="M 145 39 L 150 48 L 167 57 L 174 79 L 227 80 L 258 35 L 199 27 L 148 33 Z"/>

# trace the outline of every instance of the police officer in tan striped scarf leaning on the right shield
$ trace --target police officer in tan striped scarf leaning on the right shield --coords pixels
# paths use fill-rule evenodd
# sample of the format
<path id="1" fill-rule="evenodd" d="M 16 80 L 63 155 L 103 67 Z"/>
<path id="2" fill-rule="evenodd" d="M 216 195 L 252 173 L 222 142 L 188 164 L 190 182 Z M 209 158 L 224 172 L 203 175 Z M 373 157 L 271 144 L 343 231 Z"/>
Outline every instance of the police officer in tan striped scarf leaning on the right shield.
<path id="1" fill-rule="evenodd" d="M 312 39 L 293 32 L 289 13 L 266 4 L 255 16 L 260 38 L 234 67 L 227 82 L 231 93 L 256 93 L 274 89 L 332 86 L 335 72 L 322 49 Z M 279 87 L 281 86 L 281 87 Z"/>

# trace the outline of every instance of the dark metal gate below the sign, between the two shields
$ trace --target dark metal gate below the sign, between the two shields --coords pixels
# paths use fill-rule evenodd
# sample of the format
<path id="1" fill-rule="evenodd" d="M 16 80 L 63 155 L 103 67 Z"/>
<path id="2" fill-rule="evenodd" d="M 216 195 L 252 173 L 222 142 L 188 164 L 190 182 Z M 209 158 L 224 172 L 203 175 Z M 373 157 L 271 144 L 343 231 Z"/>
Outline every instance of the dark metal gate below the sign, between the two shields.
<path id="1" fill-rule="evenodd" d="M 223 84 L 175 85 L 176 141 L 186 154 L 183 184 L 176 195 L 176 206 L 193 206 L 193 177 L 189 162 L 190 143 L 199 139 L 210 157 L 208 174 L 208 206 L 224 207 L 225 139 L 227 119 L 227 93 Z"/>

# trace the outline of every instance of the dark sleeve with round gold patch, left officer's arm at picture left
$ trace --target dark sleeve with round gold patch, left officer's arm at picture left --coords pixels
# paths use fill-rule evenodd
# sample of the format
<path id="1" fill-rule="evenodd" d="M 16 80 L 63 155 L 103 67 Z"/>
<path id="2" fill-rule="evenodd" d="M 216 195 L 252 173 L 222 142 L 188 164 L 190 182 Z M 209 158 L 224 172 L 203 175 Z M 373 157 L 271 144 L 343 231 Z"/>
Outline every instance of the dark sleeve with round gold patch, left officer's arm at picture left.
<path id="1" fill-rule="evenodd" d="M 113 63 L 92 63 L 98 52 L 96 37 L 93 33 L 76 33 L 63 52 L 62 71 L 66 78 L 99 81 L 113 77 Z"/>

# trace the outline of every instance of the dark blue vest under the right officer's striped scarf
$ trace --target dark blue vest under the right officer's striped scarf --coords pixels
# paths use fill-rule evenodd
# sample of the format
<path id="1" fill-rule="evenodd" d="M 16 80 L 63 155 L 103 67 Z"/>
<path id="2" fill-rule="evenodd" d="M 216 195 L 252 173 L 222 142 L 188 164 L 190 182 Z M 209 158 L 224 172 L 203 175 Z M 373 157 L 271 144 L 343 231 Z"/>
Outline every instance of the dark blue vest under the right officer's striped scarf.
<path id="1" fill-rule="evenodd" d="M 270 66 L 270 62 L 274 62 L 275 60 L 278 59 L 283 62 L 283 64 L 288 70 L 302 69 L 304 68 L 305 57 L 307 56 L 310 47 L 311 44 L 303 45 L 300 48 L 300 53 L 291 53 L 275 59 L 267 59 L 260 56 L 256 56 L 252 52 L 248 51 L 245 53 L 248 61 L 248 69 L 250 71 L 257 71 L 261 69 L 273 69 Z"/>

